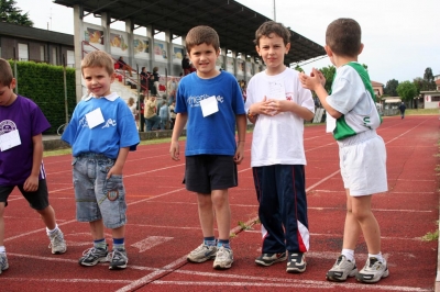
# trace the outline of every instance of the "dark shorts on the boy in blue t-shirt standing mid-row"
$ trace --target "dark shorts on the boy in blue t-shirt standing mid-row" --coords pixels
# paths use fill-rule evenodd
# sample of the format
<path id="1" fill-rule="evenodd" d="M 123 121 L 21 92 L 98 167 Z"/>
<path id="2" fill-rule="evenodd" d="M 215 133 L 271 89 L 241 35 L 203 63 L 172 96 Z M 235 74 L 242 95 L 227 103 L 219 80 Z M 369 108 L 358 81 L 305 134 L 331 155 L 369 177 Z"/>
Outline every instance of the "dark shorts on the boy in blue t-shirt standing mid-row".
<path id="1" fill-rule="evenodd" d="M 184 182 L 188 191 L 205 194 L 237 187 L 239 180 L 233 156 L 187 156 Z"/>

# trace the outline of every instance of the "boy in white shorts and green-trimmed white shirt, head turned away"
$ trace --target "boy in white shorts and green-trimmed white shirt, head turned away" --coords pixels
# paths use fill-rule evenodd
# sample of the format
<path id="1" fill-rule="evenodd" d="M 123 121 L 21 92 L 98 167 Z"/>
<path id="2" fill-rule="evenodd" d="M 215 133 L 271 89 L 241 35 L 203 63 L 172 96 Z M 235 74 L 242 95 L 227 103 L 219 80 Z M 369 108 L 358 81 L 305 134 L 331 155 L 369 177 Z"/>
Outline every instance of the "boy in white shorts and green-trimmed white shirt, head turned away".
<path id="1" fill-rule="evenodd" d="M 327 111 L 327 130 L 339 144 L 342 180 L 346 193 L 346 215 L 342 252 L 327 272 L 329 281 L 342 282 L 348 277 L 374 283 L 388 276 L 381 252 L 381 231 L 371 210 L 372 194 L 387 191 L 385 143 L 376 134 L 381 116 L 369 74 L 358 63 L 362 53 L 361 26 L 352 19 L 338 19 L 326 32 L 326 52 L 337 67 L 328 94 L 322 74 L 315 68 L 301 74 L 305 88 L 314 90 Z M 363 234 L 369 259 L 358 272 L 354 249 Z"/>

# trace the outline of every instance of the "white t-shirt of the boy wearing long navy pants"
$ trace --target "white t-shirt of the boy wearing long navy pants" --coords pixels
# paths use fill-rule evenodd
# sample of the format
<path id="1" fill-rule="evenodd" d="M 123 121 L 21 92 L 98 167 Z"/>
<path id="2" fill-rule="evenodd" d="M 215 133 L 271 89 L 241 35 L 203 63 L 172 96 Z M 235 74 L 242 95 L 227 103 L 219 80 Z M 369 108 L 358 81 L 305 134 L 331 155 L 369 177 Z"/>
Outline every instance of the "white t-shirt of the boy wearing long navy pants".
<path id="1" fill-rule="evenodd" d="M 301 87 L 298 71 L 289 68 L 276 76 L 267 76 L 265 71 L 256 74 L 250 80 L 246 93 L 246 111 L 251 104 L 267 97 L 286 99 L 315 112 L 310 90 Z M 252 138 L 251 167 L 306 165 L 302 134 L 304 120 L 292 112 L 258 115 Z"/>

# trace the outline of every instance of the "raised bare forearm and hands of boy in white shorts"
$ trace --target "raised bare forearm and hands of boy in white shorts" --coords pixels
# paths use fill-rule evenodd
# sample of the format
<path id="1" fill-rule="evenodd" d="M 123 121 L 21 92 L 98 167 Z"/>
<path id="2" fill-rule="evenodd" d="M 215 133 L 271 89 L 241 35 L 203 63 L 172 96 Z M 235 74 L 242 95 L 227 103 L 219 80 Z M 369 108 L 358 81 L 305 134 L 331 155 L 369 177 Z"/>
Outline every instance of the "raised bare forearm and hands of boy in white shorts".
<path id="1" fill-rule="evenodd" d="M 318 96 L 319 101 L 321 102 L 323 109 L 334 119 L 341 117 L 342 113 L 334 110 L 329 103 L 327 103 L 327 90 L 323 88 L 322 81 L 322 74 L 317 69 L 312 69 L 311 75 L 307 76 L 304 72 L 300 74 L 299 79 L 301 80 L 302 87 L 314 90 L 315 93 Z M 323 79 L 326 82 L 326 79 Z"/>

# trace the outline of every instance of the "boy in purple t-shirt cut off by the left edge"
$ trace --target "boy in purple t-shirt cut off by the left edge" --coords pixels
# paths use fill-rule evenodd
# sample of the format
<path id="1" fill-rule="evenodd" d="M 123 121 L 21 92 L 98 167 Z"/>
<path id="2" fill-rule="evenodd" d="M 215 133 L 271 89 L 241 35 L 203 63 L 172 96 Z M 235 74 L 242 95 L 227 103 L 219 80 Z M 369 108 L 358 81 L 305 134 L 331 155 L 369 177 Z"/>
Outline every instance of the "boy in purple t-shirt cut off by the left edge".
<path id="1" fill-rule="evenodd" d="M 0 59 L 0 273 L 9 268 L 4 248 L 4 207 L 15 186 L 42 217 L 52 254 L 64 254 L 66 242 L 48 203 L 43 165 L 42 133 L 51 127 L 40 108 L 13 92 L 15 78 L 6 59 Z"/>

